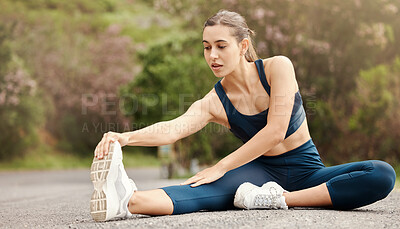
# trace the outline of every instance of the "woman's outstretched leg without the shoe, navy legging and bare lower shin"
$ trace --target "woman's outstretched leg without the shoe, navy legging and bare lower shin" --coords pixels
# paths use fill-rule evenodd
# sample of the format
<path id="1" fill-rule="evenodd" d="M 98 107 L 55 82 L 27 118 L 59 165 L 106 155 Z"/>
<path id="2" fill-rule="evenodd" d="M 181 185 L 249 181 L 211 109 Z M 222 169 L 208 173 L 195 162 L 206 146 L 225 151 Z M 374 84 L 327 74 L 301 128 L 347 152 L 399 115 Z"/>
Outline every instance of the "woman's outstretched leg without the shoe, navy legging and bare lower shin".
<path id="1" fill-rule="evenodd" d="M 266 171 L 262 164 L 251 162 L 229 171 L 215 182 L 198 187 L 175 185 L 150 191 L 136 191 L 130 198 L 128 208 L 131 213 L 146 215 L 234 209 L 233 199 L 240 184 L 252 182 L 262 185 L 272 180 L 272 173 L 273 171 Z"/>

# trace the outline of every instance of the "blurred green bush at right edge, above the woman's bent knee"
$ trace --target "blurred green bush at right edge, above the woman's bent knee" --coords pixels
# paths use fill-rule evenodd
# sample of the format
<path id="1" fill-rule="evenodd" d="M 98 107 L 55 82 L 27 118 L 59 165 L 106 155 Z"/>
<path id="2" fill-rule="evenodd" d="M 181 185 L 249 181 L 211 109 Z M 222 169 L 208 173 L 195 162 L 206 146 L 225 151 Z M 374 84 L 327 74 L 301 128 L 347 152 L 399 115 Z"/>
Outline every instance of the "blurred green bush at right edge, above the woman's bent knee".
<path id="1" fill-rule="evenodd" d="M 396 161 L 400 157 L 400 58 L 360 72 L 349 119 L 359 157 Z"/>

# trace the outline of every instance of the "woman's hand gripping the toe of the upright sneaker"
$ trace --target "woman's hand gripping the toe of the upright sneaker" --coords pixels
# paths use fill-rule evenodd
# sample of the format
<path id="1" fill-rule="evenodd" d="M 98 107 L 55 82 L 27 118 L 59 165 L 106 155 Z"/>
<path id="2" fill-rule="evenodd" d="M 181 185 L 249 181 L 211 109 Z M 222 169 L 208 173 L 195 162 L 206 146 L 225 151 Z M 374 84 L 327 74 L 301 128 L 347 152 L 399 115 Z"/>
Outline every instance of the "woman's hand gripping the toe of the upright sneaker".
<path id="1" fill-rule="evenodd" d="M 96 149 L 94 150 L 94 156 L 102 159 L 104 155 L 108 154 L 110 144 L 115 141 L 118 141 L 122 147 L 128 144 L 128 137 L 126 134 L 120 134 L 111 131 L 105 133 L 99 144 L 97 144 Z"/>

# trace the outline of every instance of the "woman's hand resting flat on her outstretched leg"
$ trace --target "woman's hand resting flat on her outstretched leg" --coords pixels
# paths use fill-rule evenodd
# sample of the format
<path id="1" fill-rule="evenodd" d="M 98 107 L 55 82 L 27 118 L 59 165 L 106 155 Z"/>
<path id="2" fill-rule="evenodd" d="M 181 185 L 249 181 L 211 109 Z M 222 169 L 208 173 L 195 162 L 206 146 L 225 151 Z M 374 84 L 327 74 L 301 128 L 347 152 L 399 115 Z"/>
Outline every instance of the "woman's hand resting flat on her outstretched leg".
<path id="1" fill-rule="evenodd" d="M 222 169 L 218 165 L 214 165 L 213 167 L 207 168 L 203 171 L 198 172 L 196 175 L 187 179 L 185 182 L 181 183 L 181 185 L 190 185 L 191 187 L 197 187 L 202 184 L 208 184 L 214 182 L 224 176 L 226 171 Z"/>

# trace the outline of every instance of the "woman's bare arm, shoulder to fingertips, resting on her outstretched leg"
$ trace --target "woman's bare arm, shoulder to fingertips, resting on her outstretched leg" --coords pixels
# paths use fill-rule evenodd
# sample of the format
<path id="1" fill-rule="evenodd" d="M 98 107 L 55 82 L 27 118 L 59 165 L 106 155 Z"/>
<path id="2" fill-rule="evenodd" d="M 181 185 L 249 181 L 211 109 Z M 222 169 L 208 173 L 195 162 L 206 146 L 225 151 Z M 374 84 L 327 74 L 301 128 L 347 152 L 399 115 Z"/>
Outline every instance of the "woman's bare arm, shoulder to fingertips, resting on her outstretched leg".
<path id="1" fill-rule="evenodd" d="M 278 56 L 271 60 L 268 70 L 271 74 L 271 96 L 267 125 L 216 165 L 199 172 L 182 184 L 194 183 L 192 187 L 196 187 L 213 182 L 226 172 L 265 154 L 284 140 L 297 91 L 294 68 L 288 58 Z"/>

